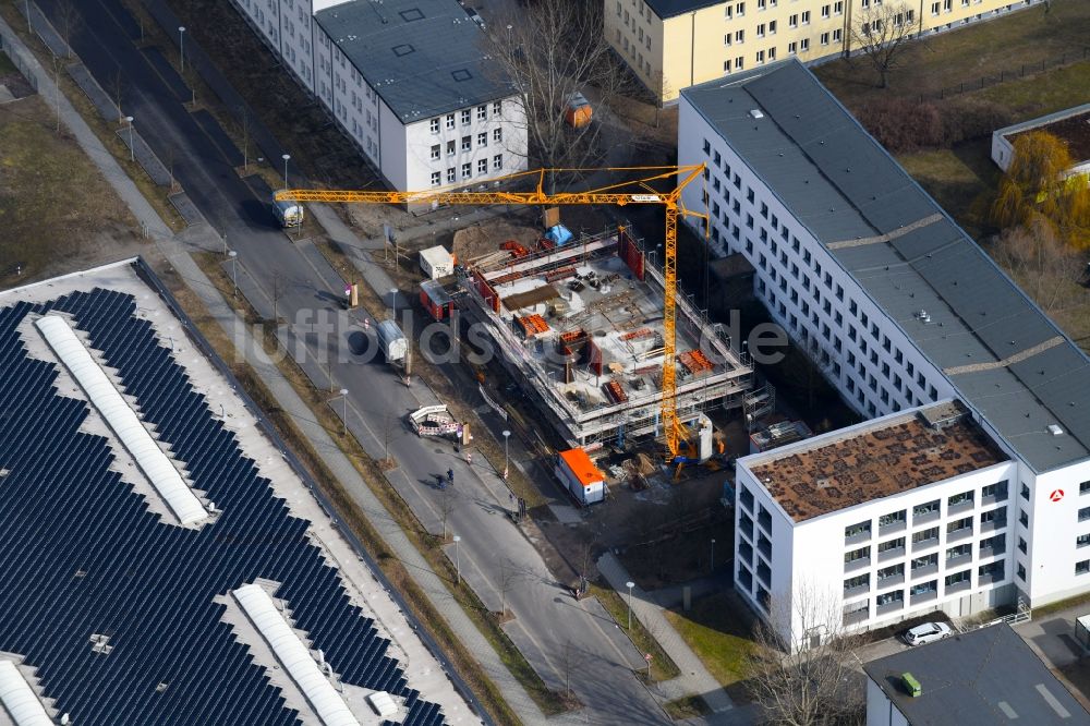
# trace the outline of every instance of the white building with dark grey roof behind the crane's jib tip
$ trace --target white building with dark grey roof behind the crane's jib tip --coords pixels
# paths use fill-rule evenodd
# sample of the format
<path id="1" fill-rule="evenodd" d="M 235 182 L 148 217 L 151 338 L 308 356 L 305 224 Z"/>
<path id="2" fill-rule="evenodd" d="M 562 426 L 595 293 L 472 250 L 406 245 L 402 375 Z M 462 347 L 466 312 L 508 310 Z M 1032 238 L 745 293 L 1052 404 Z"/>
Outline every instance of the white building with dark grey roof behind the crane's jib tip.
<path id="1" fill-rule="evenodd" d="M 455 0 L 232 0 L 397 190 L 526 168 L 525 116 Z"/>

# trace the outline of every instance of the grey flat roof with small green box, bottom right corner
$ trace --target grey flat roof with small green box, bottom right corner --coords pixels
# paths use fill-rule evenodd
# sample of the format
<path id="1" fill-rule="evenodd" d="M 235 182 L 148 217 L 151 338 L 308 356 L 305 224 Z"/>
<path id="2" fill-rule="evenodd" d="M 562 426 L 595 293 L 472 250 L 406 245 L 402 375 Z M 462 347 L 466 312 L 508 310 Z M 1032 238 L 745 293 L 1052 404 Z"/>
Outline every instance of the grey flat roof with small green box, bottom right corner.
<path id="1" fill-rule="evenodd" d="M 1005 624 L 872 661 L 863 670 L 912 726 L 1090 724 L 1086 709 Z M 920 682 L 921 695 L 901 688 L 904 673 Z"/>

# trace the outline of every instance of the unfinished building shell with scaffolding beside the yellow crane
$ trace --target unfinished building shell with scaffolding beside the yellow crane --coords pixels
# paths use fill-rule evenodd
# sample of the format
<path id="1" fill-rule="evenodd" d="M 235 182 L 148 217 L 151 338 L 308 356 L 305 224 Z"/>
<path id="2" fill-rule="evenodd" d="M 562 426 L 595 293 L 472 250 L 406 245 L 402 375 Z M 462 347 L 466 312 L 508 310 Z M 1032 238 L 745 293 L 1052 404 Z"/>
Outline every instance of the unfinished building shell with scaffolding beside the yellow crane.
<path id="1" fill-rule="evenodd" d="M 531 252 L 504 243 L 467 261 L 467 307 L 572 446 L 658 433 L 664 277 L 625 228 Z M 740 407 L 753 368 L 686 295 L 677 298 L 677 409 Z"/>

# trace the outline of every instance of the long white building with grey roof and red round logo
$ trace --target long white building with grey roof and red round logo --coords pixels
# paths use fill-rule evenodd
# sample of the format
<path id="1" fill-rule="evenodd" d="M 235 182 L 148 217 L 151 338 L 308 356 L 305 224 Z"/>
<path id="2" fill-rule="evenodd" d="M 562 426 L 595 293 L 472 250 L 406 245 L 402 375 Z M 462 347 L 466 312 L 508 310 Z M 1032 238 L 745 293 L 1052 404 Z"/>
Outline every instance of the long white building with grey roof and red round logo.
<path id="1" fill-rule="evenodd" d="M 756 297 L 845 401 L 876 419 L 960 399 L 1008 457 L 1009 594 L 1090 590 L 1079 348 L 797 59 L 682 92 L 678 145 L 679 164 L 707 165 L 682 202 L 706 203 L 712 249 L 752 264 Z"/>

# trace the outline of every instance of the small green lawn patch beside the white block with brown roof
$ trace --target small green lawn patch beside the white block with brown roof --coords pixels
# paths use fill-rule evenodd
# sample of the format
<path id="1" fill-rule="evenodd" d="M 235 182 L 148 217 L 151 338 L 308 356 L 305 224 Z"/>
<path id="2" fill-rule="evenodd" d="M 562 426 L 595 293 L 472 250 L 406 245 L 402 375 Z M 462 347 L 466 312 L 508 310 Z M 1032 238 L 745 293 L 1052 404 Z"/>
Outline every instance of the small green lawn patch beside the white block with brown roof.
<path id="1" fill-rule="evenodd" d="M 746 661 L 754 644 L 752 616 L 729 593 L 707 595 L 688 612 L 667 610 L 670 625 L 724 687 L 746 679 Z"/>

